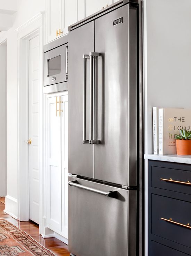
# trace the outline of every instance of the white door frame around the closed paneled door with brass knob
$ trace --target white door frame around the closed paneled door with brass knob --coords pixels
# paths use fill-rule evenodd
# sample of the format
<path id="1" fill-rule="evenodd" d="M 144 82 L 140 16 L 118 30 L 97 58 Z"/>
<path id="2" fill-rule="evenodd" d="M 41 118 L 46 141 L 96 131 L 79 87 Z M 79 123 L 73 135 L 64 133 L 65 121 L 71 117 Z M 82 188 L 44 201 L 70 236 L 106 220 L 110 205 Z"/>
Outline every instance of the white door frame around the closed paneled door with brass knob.
<path id="1" fill-rule="evenodd" d="M 43 233 L 44 216 L 44 103 L 43 95 L 43 12 L 16 29 L 18 39 L 18 91 L 17 91 L 17 168 L 18 219 L 29 220 L 29 166 L 28 166 L 28 65 L 29 40 L 39 36 L 39 232 Z M 27 85 L 27 86 L 26 86 Z"/>

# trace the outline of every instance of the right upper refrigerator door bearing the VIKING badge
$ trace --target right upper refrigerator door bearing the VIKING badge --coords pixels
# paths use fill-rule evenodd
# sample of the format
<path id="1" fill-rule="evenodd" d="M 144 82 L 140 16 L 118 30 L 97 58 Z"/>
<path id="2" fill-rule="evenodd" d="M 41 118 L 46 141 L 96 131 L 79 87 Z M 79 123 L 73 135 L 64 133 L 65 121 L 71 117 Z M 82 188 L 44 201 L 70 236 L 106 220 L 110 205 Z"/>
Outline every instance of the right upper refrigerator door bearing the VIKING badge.
<path id="1" fill-rule="evenodd" d="M 120 7 L 95 20 L 94 178 L 136 186 L 136 9 Z"/>

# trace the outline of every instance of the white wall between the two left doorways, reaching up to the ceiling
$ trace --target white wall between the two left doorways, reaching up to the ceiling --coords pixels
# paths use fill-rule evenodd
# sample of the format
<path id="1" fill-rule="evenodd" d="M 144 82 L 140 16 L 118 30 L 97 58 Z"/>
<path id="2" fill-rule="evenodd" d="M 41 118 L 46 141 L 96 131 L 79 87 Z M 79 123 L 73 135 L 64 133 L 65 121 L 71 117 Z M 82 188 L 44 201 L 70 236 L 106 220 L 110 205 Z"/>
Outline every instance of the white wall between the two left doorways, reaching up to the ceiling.
<path id="1" fill-rule="evenodd" d="M 7 31 L 7 196 L 6 211 L 14 217 L 17 208 L 17 32 L 20 25 L 45 11 L 45 0 L 17 0 L 13 27 Z M 1 40 L 1 35 L 0 35 Z M 28 138 L 26 138 L 28 139 Z"/>

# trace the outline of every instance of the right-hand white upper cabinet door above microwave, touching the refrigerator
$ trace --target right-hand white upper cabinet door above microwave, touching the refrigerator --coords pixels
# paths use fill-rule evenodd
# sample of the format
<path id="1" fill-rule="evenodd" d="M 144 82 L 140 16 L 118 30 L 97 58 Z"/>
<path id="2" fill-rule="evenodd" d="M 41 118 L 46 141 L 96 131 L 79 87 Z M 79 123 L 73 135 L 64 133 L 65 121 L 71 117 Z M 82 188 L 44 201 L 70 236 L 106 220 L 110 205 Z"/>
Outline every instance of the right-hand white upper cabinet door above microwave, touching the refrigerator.
<path id="1" fill-rule="evenodd" d="M 69 25 L 77 22 L 77 0 L 65 0 L 61 2 L 61 30 L 62 35 L 68 33 Z"/>

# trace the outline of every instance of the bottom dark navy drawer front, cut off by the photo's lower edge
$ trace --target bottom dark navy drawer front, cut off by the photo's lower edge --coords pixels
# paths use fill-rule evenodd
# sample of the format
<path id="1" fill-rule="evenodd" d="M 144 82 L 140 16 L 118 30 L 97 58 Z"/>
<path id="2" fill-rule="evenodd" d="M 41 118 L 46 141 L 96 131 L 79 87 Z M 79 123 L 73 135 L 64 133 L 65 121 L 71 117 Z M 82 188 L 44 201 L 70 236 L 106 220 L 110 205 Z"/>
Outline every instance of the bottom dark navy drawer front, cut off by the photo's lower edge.
<path id="1" fill-rule="evenodd" d="M 173 248 L 164 246 L 163 244 L 151 241 L 149 256 L 187 256 L 189 254 L 174 250 Z"/>

